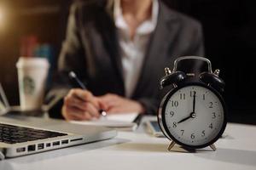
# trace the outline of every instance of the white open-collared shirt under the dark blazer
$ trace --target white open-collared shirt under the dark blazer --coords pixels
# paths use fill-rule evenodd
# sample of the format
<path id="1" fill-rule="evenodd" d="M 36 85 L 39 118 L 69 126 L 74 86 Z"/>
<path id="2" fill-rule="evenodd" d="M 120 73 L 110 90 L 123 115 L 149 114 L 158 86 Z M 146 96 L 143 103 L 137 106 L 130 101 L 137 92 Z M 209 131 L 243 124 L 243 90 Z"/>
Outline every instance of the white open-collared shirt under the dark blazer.
<path id="1" fill-rule="evenodd" d="M 130 98 L 135 90 L 140 77 L 143 59 L 148 47 L 149 37 L 157 25 L 159 12 L 158 0 L 152 0 L 151 18 L 143 21 L 137 27 L 133 40 L 129 36 L 129 27 L 127 26 L 120 6 L 120 0 L 114 1 L 114 22 L 118 29 L 119 54 L 123 66 L 123 77 L 125 81 L 125 96 Z"/>

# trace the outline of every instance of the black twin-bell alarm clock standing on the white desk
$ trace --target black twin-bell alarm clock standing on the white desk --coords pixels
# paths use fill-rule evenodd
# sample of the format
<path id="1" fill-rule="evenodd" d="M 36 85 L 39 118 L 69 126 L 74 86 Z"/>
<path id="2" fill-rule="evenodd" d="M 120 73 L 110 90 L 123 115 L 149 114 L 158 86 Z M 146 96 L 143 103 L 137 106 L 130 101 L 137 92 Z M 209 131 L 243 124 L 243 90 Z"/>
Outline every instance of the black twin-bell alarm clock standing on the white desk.
<path id="1" fill-rule="evenodd" d="M 177 65 L 182 68 L 184 61 L 204 63 L 207 70 L 184 72 L 177 68 Z M 226 106 L 221 95 L 224 81 L 218 77 L 219 70 L 212 72 L 207 58 L 185 56 L 174 61 L 172 71 L 169 68 L 165 71 L 160 89 L 171 87 L 171 90 L 160 102 L 158 122 L 166 138 L 172 140 L 168 150 L 172 150 L 174 144 L 188 149 L 210 146 L 216 150 L 214 143 L 224 133 L 227 124 Z"/>

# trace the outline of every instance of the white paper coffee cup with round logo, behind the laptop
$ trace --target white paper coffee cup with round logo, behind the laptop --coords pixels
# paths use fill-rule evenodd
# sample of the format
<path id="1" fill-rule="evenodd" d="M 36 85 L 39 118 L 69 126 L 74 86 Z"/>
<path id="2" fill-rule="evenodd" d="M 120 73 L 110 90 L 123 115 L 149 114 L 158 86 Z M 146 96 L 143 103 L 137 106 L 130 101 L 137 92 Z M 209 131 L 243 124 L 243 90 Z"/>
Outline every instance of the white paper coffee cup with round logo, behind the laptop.
<path id="1" fill-rule="evenodd" d="M 44 58 L 20 57 L 18 69 L 20 108 L 22 111 L 41 110 L 49 62 Z"/>

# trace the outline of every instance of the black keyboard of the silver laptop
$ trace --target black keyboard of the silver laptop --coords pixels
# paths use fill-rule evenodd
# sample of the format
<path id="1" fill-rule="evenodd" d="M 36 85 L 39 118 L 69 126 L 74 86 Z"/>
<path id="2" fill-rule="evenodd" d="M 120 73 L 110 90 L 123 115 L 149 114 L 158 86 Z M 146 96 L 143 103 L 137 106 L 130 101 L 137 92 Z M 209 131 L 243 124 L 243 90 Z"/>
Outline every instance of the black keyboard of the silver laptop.
<path id="1" fill-rule="evenodd" d="M 40 130 L 31 127 L 18 127 L 15 125 L 0 123 L 0 142 L 16 144 L 38 139 L 48 139 L 58 136 L 65 136 L 67 133 L 57 133 L 47 130 Z"/>

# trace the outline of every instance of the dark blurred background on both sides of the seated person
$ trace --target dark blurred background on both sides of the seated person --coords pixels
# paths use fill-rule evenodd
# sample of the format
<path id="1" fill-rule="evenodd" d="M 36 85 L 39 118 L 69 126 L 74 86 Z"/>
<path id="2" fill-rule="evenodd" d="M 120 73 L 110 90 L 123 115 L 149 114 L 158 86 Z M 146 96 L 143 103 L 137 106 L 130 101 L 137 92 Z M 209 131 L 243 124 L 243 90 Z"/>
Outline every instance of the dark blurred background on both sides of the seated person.
<path id="1" fill-rule="evenodd" d="M 36 35 L 54 48 L 55 61 L 65 38 L 67 15 L 72 0 L 2 0 L 5 9 L 0 28 L 0 82 L 11 105 L 19 105 L 15 63 L 20 39 Z M 249 0 L 165 0 L 172 8 L 201 21 L 206 57 L 220 69 L 226 82 L 224 98 L 229 122 L 256 124 L 255 6 Z M 254 42 L 254 43 L 253 43 Z M 53 62 L 55 67 L 55 62 Z"/>

